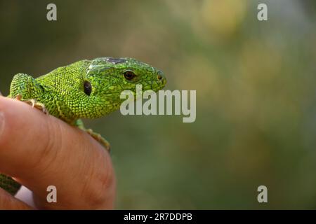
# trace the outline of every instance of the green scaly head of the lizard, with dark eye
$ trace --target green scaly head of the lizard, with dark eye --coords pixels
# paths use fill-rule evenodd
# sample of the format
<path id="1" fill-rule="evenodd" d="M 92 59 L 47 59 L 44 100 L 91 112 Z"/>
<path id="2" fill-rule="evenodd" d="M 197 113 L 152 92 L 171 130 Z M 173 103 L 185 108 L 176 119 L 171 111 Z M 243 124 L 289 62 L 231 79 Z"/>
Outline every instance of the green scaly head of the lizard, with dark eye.
<path id="1" fill-rule="evenodd" d="M 120 99 L 121 92 L 136 92 L 136 85 L 157 92 L 166 85 L 166 78 L 159 69 L 133 58 L 100 57 L 88 65 L 84 92 L 103 116 L 118 109 L 125 100 Z"/>

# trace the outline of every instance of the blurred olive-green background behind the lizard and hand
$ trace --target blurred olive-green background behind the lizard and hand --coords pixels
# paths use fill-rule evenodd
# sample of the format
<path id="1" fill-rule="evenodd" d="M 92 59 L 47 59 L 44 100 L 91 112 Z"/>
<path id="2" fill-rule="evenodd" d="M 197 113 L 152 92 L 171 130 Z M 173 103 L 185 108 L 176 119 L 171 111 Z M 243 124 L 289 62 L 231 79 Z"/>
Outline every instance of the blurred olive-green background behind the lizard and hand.
<path id="1" fill-rule="evenodd" d="M 195 123 L 88 120 L 112 144 L 117 209 L 316 209 L 316 1 L 0 1 L 0 12 L 4 94 L 15 73 L 103 56 L 197 90 Z"/>

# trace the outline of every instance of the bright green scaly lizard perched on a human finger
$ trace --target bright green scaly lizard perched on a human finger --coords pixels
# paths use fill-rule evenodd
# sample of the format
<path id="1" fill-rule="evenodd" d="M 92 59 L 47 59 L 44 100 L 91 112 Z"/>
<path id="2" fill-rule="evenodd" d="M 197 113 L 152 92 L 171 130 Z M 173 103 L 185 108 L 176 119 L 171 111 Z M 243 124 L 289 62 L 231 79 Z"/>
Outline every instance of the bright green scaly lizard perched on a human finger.
<path id="1" fill-rule="evenodd" d="M 85 130 L 108 151 L 110 144 L 80 118 L 99 118 L 119 109 L 124 90 L 160 90 L 166 85 L 162 71 L 132 58 L 100 57 L 59 67 L 39 78 L 18 73 L 8 97 L 18 99 Z M 136 94 L 136 93 L 135 93 Z M 20 184 L 0 174 L 0 187 L 14 195 Z"/>

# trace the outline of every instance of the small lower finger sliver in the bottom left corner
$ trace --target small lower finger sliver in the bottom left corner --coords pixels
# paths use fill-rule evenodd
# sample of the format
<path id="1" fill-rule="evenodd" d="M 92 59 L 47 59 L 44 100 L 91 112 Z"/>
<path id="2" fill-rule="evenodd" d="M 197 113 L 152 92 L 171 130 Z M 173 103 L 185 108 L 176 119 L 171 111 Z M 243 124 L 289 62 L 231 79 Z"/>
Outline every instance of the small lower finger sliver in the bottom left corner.
<path id="1" fill-rule="evenodd" d="M 0 188 L 0 210 L 22 210 L 32 209 L 24 202 L 16 199 L 5 190 Z"/>

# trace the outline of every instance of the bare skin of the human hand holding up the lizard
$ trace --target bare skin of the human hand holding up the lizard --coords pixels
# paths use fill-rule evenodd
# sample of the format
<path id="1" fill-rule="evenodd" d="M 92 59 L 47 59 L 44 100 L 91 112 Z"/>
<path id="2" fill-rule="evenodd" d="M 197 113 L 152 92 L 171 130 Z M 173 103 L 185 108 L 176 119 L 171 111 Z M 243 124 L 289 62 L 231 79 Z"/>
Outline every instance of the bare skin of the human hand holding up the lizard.
<path id="1" fill-rule="evenodd" d="M 34 207 L 0 188 L 0 209 L 113 209 L 109 153 L 86 132 L 24 102 L 0 97 L 0 173 L 32 191 Z M 48 203 L 47 187 L 57 188 Z"/>

